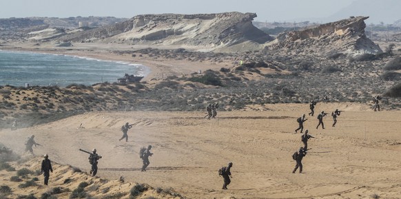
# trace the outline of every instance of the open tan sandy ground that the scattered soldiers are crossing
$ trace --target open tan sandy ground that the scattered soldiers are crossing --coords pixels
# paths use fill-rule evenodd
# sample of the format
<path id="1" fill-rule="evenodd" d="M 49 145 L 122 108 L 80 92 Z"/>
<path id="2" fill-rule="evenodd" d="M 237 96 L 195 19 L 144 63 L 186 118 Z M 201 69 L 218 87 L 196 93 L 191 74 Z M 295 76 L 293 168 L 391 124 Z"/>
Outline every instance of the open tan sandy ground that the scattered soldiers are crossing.
<path id="1" fill-rule="evenodd" d="M 188 198 L 382 198 L 401 196 L 400 111 L 373 112 L 365 105 L 319 103 L 316 112 L 345 110 L 331 127 L 316 129 L 316 117 L 305 123 L 311 150 L 302 161 L 304 174 L 291 174 L 291 154 L 302 143 L 295 134 L 296 118 L 308 105 L 269 105 L 267 111 L 218 112 L 207 120 L 204 112 L 93 112 L 62 121 L 0 132 L 1 141 L 23 152 L 25 137 L 34 134 L 61 164 L 89 171 L 88 154 L 103 156 L 98 176 L 173 187 Z M 129 141 L 119 142 L 119 128 L 134 123 Z M 84 128 L 79 129 L 80 124 Z M 4 141 L 6 140 L 6 141 Z M 138 150 L 152 145 L 150 168 L 141 172 Z M 232 184 L 221 190 L 218 168 L 233 162 Z M 51 180 L 51 179 L 50 179 Z"/>

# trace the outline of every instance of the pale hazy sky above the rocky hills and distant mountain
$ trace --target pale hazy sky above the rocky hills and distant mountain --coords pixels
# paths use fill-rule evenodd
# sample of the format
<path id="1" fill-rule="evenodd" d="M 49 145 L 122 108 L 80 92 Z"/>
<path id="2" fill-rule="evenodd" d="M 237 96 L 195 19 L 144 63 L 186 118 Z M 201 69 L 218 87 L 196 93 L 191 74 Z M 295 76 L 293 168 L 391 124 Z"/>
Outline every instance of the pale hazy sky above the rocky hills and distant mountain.
<path id="1" fill-rule="evenodd" d="M 125 17 L 138 14 L 256 12 L 255 21 L 329 17 L 353 0 L 0 0 L 0 18 Z"/>

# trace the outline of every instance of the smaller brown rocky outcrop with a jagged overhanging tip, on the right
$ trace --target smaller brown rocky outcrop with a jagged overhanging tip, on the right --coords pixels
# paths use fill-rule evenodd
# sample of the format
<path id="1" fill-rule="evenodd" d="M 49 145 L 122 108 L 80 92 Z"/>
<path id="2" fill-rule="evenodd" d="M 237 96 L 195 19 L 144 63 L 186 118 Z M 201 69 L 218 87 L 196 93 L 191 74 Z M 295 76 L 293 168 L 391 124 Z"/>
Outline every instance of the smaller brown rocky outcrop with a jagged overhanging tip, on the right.
<path id="1" fill-rule="evenodd" d="M 350 17 L 333 23 L 284 32 L 270 45 L 274 50 L 287 49 L 302 52 L 378 54 L 382 52 L 364 33 L 364 20 L 369 17 Z"/>

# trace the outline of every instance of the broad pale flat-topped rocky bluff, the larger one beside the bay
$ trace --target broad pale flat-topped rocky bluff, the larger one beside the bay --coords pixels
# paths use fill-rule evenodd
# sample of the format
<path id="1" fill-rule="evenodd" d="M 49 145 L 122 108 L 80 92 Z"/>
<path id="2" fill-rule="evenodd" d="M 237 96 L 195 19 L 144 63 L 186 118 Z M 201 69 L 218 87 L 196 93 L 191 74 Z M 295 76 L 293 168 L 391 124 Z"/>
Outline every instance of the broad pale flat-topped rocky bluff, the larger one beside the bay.
<path id="1" fill-rule="evenodd" d="M 185 45 L 216 49 L 239 43 L 258 45 L 273 38 L 252 25 L 254 13 L 145 14 L 128 21 L 63 37 L 68 41 L 106 41 L 152 45 Z M 260 46 L 262 48 L 262 46 Z"/>

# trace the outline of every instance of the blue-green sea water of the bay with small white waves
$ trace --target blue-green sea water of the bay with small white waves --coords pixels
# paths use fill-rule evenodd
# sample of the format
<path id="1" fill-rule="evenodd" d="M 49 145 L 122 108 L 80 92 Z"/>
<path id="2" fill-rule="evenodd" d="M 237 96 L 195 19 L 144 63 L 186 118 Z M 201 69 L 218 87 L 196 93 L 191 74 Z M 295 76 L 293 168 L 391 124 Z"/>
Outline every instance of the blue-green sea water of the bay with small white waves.
<path id="1" fill-rule="evenodd" d="M 0 50 L 0 85 L 93 85 L 117 82 L 125 74 L 146 76 L 149 73 L 150 69 L 141 64 Z"/>

